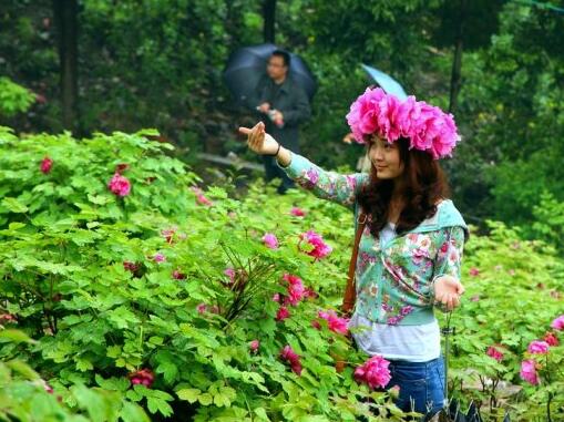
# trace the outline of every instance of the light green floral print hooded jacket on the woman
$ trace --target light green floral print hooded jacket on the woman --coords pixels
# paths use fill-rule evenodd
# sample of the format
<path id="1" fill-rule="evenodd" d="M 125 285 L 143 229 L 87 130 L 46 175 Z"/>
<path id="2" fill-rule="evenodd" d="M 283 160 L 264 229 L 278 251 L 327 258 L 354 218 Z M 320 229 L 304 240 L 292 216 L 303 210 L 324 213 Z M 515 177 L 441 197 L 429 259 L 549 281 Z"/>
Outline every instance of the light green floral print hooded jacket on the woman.
<path id="1" fill-rule="evenodd" d="M 356 196 L 368 183 L 368 174 L 326 172 L 298 154 L 281 168 L 301 187 L 357 215 Z M 466 224 L 450 199 L 442 200 L 432 217 L 387 244 L 366 227 L 357 260 L 355 311 L 379 323 L 432 322 L 432 285 L 441 276 L 460 279 L 466 238 Z"/>

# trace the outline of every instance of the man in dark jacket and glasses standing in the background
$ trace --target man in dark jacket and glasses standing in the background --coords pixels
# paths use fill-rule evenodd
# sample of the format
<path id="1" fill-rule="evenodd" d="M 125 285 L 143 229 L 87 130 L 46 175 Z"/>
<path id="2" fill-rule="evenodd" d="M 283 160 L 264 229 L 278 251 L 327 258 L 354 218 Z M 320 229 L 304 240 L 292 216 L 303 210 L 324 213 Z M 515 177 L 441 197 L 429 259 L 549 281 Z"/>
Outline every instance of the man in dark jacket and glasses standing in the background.
<path id="1" fill-rule="evenodd" d="M 264 75 L 246 105 L 259 114 L 268 133 L 280 144 L 291 151 L 299 151 L 298 126 L 311 114 L 309 100 L 305 90 L 288 74 L 290 54 L 275 50 L 266 66 Z M 281 178 L 278 193 L 284 194 L 294 186 L 294 182 L 281 171 L 270 156 L 263 156 L 266 179 Z"/>

